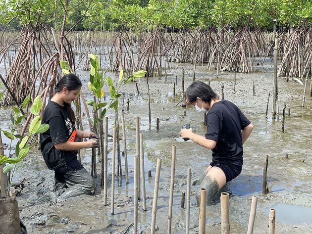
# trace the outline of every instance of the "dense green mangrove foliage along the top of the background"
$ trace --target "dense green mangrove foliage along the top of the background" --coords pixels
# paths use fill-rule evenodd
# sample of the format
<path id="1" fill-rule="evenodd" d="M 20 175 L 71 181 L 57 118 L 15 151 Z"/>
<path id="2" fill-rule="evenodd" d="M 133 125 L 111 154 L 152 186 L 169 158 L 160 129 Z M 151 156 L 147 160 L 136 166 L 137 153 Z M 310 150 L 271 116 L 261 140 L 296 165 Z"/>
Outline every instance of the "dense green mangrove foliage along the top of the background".
<path id="1" fill-rule="evenodd" d="M 271 30 L 312 23 L 311 0 L 1 0 L 0 28 L 31 25 L 73 30 L 209 29 L 248 24 Z"/>

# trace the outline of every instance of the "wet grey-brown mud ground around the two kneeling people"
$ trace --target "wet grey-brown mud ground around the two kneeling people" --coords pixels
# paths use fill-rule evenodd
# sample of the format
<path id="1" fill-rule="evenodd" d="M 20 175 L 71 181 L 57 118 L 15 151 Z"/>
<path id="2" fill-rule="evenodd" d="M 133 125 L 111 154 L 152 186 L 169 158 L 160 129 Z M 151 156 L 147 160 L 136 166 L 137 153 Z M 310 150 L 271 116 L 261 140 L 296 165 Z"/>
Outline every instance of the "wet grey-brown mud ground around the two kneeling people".
<path id="1" fill-rule="evenodd" d="M 185 89 L 191 84 L 193 66 L 190 64 L 173 64 L 165 82 L 164 77 L 149 78 L 151 93 L 152 124 L 149 126 L 148 95 L 146 79 L 138 80 L 140 94 L 135 83 L 122 88 L 130 99 L 126 118 L 127 152 L 129 163 L 129 184 L 125 177 L 115 177 L 115 212 L 110 213 L 111 185 L 111 140 L 108 143 L 108 205 L 103 205 L 103 189 L 100 185 L 100 170 L 96 182 L 95 195 L 82 195 L 65 202 L 55 203 L 53 171 L 45 166 L 40 151 L 32 151 L 25 159 L 25 164 L 15 180 L 22 181 L 23 189 L 17 197 L 20 218 L 30 234 L 97 234 L 97 233 L 133 233 L 133 158 L 135 150 L 135 117 L 140 116 L 140 128 L 144 135 L 145 177 L 147 189 L 147 211 L 139 201 L 138 233 L 150 233 L 154 179 L 157 158 L 162 159 L 159 193 L 157 202 L 156 233 L 167 232 L 169 204 L 171 149 L 177 147 L 175 187 L 172 215 L 172 233 L 185 233 L 186 209 L 180 208 L 181 192 L 186 191 L 187 168 L 192 170 L 192 181 L 204 172 L 211 160 L 211 151 L 193 142 L 184 142 L 179 138 L 182 125 L 190 123 L 198 134 L 205 134 L 204 114 L 195 108 L 183 108 L 176 104 L 182 99 L 181 74 L 185 69 Z M 290 117 L 285 120 L 285 133 L 281 132 L 281 115 L 272 121 L 272 103 L 269 102 L 269 115 L 265 118 L 265 109 L 269 91 L 272 90 L 272 65 L 255 67 L 253 74 L 237 74 L 236 92 L 234 93 L 234 74 L 208 71 L 205 66 L 197 67 L 196 80 L 208 82 L 221 97 L 221 84 L 224 84 L 224 98 L 237 104 L 254 124 L 254 131 L 244 144 L 244 166 L 241 175 L 228 183 L 222 191 L 230 193 L 230 227 L 232 234 L 247 232 L 251 199 L 258 196 L 257 215 L 254 226 L 255 234 L 268 232 L 269 208 L 276 208 L 277 234 L 312 233 L 312 101 L 307 95 L 305 107 L 301 107 L 304 86 L 278 79 L 279 112 L 283 103 L 290 108 Z M 87 93 L 89 72 L 80 71 L 80 78 Z M 173 82 L 177 76 L 176 96 L 173 96 Z M 255 96 L 253 96 L 253 81 Z M 310 92 L 307 92 L 307 94 Z M 89 96 L 90 97 L 90 96 Z M 120 100 L 119 110 L 121 110 Z M 91 110 L 90 110 L 91 111 Z M 186 116 L 184 116 L 186 111 Z M 120 113 L 121 111 L 119 111 Z M 9 111 L 1 111 L 1 126 L 9 125 Z M 112 116 L 112 112 L 108 116 Z M 156 131 L 156 118 L 159 118 L 159 131 Z M 121 123 L 121 121 L 120 121 Z M 113 118 L 109 118 L 109 132 Z M 87 119 L 84 127 L 88 130 Z M 5 143 L 5 137 L 2 135 Z M 122 150 L 122 140 L 120 141 Z M 6 150 L 6 152 L 8 152 Z M 90 171 L 91 150 L 81 150 L 84 167 Z M 266 154 L 269 155 L 267 181 L 269 193 L 262 194 L 262 172 Z M 285 155 L 288 154 L 288 158 Z M 124 160 L 122 158 L 124 173 Z M 101 162 L 98 161 L 98 168 Z M 152 178 L 148 171 L 152 170 Z M 20 184 L 20 183 L 19 183 Z M 198 233 L 199 208 L 196 206 L 195 190 L 191 196 L 191 232 Z M 185 203 L 186 204 L 186 203 Z M 219 194 L 214 203 L 207 207 L 207 233 L 220 233 L 221 214 Z"/>

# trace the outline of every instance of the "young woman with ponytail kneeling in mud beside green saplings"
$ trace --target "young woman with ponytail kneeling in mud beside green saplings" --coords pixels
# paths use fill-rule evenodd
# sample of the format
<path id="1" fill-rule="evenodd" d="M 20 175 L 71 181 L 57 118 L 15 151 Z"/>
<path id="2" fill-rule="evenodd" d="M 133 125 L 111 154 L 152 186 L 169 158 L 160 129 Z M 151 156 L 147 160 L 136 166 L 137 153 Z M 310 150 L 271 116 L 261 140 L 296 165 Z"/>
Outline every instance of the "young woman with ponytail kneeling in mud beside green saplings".
<path id="1" fill-rule="evenodd" d="M 63 76 L 56 84 L 55 95 L 47 104 L 42 118 L 42 123 L 49 124 L 50 128 L 40 134 L 41 151 L 48 168 L 55 172 L 57 200 L 90 194 L 95 189 L 93 178 L 77 160 L 79 149 L 99 146 L 97 135 L 75 128 L 71 102 L 79 94 L 81 86 L 76 75 Z M 82 138 L 90 140 L 80 142 Z M 68 189 L 63 189 L 66 187 Z"/>

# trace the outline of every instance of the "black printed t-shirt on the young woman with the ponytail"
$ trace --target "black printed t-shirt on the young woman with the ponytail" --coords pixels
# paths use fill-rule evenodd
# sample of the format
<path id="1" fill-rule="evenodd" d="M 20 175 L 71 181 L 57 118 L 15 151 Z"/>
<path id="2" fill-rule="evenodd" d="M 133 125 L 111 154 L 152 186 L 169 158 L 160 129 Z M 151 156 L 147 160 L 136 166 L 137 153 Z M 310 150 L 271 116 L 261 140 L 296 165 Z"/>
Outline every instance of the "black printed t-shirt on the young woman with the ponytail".
<path id="1" fill-rule="evenodd" d="M 54 144 L 66 142 L 76 129 L 69 120 L 66 107 L 49 101 L 41 123 L 50 126 L 47 132 L 40 134 L 41 152 L 49 169 L 65 165 L 77 156 L 76 150 L 58 150 L 54 147 Z M 78 141 L 77 137 L 75 141 Z"/>

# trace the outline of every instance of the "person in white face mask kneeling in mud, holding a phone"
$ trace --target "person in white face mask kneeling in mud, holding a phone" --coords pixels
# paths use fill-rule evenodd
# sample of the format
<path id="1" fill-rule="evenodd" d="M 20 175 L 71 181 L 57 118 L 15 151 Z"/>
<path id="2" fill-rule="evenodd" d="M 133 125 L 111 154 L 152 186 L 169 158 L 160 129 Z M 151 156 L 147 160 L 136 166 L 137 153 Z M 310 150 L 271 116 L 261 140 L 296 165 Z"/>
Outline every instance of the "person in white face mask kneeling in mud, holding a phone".
<path id="1" fill-rule="evenodd" d="M 203 82 L 193 82 L 188 87 L 185 102 L 194 105 L 200 112 L 208 111 L 205 136 L 192 133 L 191 128 L 182 129 L 180 136 L 212 150 L 212 162 L 194 184 L 207 189 L 207 204 L 211 204 L 216 192 L 241 173 L 243 143 L 254 126 L 235 104 L 220 100 Z"/>

